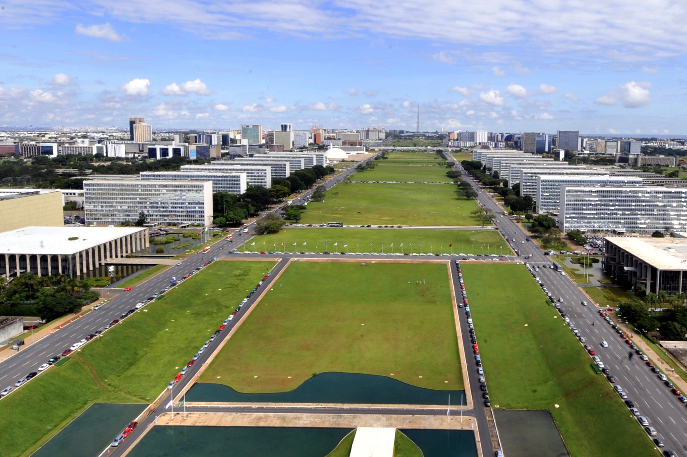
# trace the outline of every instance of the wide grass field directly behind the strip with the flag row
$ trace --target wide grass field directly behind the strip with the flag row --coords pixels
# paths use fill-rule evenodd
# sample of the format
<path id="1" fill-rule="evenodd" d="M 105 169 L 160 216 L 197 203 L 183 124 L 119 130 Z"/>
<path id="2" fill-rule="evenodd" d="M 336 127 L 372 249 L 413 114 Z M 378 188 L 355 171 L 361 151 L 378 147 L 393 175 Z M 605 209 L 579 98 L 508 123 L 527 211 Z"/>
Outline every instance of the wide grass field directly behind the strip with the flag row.
<path id="1" fill-rule="evenodd" d="M 457 198 L 449 185 L 341 183 L 325 202 L 312 201 L 302 224 L 482 225 L 470 211 L 475 200 Z"/>

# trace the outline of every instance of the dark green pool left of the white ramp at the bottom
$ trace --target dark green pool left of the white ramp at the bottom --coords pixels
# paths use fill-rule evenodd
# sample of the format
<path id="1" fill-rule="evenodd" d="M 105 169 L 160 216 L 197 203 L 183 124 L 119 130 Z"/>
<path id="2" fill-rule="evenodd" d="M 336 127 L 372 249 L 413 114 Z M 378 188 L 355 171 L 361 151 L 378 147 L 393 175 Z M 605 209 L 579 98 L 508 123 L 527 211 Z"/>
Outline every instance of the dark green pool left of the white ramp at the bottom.
<path id="1" fill-rule="evenodd" d="M 350 428 L 156 425 L 130 457 L 324 457 Z"/>

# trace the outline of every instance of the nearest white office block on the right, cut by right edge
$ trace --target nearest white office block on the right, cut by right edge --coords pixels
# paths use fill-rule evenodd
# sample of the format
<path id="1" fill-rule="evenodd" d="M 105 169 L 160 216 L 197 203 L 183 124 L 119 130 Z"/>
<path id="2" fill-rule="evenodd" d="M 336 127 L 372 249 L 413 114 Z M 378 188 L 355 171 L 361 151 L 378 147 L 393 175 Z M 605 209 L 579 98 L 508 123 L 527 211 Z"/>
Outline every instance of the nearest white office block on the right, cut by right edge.
<path id="1" fill-rule="evenodd" d="M 653 233 L 669 227 L 687 231 L 684 187 L 565 187 L 561 191 L 563 231 Z M 685 268 L 687 270 L 687 268 Z"/>

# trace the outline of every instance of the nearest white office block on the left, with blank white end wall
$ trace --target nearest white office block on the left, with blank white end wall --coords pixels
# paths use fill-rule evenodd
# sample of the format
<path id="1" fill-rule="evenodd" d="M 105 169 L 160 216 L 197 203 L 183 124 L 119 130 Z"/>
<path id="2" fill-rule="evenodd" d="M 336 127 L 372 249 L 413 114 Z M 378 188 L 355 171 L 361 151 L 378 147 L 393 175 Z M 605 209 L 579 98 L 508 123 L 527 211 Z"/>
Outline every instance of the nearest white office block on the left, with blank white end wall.
<path id="1" fill-rule="evenodd" d="M 84 196 L 87 225 L 135 222 L 141 211 L 148 223 L 212 224 L 211 181 L 87 180 Z"/>

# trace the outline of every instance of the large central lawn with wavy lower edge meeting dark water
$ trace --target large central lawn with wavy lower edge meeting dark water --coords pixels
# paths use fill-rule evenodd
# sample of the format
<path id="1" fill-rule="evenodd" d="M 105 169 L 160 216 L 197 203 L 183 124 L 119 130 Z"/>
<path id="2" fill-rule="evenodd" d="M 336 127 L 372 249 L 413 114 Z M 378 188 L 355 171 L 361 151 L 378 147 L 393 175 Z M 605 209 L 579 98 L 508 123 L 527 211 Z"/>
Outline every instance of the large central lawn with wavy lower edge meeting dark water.
<path id="1" fill-rule="evenodd" d="M 199 382 L 284 392 L 339 371 L 462 389 L 447 275 L 443 263 L 292 262 Z"/>

